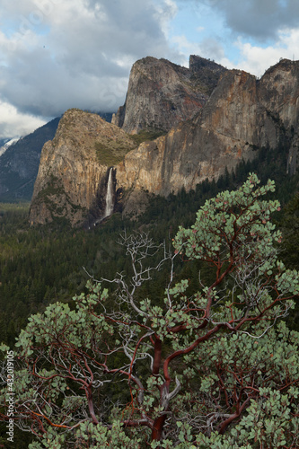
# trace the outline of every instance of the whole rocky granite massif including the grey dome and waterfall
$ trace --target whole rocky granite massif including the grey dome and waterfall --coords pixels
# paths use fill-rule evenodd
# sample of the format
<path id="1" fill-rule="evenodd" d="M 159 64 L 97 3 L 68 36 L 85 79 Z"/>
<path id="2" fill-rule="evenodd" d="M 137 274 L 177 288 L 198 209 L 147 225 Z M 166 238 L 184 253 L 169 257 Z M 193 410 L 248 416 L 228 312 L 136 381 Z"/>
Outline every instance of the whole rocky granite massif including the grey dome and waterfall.
<path id="1" fill-rule="evenodd" d="M 282 60 L 260 80 L 200 57 L 191 57 L 190 67 L 154 57 L 137 61 L 122 128 L 95 114 L 67 111 L 42 150 L 31 223 L 64 216 L 72 225 L 94 225 L 121 207 L 135 216 L 146 207 L 147 193 L 196 189 L 253 159 L 258 148 L 283 148 L 289 152 L 286 171 L 297 170 L 299 62 Z M 212 93 L 204 94 L 203 86 L 208 92 L 212 84 Z M 165 131 L 171 123 L 164 136 L 137 147 L 138 136 L 125 132 Z"/>

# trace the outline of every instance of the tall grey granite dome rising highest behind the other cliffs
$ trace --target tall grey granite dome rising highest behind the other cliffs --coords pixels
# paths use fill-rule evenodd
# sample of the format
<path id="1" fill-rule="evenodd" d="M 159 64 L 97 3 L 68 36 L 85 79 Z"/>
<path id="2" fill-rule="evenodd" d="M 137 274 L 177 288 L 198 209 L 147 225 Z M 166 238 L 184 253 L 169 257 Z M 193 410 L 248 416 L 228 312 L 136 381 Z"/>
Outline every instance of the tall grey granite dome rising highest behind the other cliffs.
<path id="1" fill-rule="evenodd" d="M 190 57 L 189 69 L 145 57 L 132 67 L 126 103 L 112 123 L 130 134 L 141 129 L 169 131 L 206 104 L 224 71 L 201 57 Z"/>

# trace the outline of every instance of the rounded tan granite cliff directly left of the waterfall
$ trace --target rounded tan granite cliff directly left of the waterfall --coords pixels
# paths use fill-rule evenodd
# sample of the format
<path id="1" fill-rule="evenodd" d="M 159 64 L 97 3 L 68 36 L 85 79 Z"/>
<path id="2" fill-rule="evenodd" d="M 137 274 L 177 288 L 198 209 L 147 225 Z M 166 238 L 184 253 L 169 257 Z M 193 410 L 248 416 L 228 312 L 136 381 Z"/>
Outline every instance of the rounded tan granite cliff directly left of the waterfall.
<path id="1" fill-rule="evenodd" d="M 124 131 L 98 115 L 66 111 L 56 136 L 41 152 L 31 225 L 51 222 L 54 216 L 82 225 L 94 208 L 98 210 L 94 220 L 103 215 L 101 190 L 105 189 L 108 168 L 135 146 Z"/>

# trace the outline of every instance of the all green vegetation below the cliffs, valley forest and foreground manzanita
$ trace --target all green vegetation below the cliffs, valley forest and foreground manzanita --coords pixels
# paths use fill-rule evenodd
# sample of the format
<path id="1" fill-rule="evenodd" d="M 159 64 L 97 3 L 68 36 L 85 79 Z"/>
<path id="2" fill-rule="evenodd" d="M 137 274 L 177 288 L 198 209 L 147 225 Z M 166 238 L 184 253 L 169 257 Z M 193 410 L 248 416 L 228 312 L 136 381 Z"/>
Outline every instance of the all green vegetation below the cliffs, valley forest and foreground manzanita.
<path id="1" fill-rule="evenodd" d="M 3 206 L 0 445 L 298 447 L 298 176 L 269 157 L 90 232 Z"/>

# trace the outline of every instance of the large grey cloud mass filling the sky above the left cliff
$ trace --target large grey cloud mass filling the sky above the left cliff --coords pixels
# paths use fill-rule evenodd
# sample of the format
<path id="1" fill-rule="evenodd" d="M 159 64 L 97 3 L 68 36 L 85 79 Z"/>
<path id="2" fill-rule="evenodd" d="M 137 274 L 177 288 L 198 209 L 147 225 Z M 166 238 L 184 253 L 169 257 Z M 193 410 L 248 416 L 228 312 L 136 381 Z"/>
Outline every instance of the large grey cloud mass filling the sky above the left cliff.
<path id="1" fill-rule="evenodd" d="M 14 23 L 14 31 L 0 31 L 0 100 L 22 112 L 117 110 L 132 64 L 171 56 L 168 0 L 21 0 L 21 14 L 11 4 L 0 4 L 3 20 Z"/>

